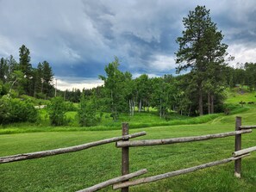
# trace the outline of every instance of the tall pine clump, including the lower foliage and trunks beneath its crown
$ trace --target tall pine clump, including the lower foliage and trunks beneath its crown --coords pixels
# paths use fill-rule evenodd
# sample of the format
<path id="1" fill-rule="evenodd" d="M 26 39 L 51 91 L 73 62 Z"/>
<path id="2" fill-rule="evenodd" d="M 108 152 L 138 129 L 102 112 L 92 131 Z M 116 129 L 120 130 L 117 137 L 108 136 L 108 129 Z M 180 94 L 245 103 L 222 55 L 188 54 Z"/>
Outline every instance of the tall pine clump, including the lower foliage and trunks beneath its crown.
<path id="1" fill-rule="evenodd" d="M 196 101 L 199 115 L 203 115 L 205 106 L 208 113 L 214 113 L 215 104 L 222 102 L 215 100 L 222 93 L 225 57 L 228 46 L 222 43 L 223 35 L 216 24 L 211 21 L 209 9 L 197 6 L 195 10 L 183 19 L 185 30 L 183 36 L 178 37 L 177 71 L 190 68 L 190 84 L 197 89 Z M 193 91 L 193 90 L 190 90 Z M 208 99 L 206 99 L 208 97 Z M 221 98 L 221 96 L 218 96 Z M 204 104 L 207 101 L 207 104 Z"/>

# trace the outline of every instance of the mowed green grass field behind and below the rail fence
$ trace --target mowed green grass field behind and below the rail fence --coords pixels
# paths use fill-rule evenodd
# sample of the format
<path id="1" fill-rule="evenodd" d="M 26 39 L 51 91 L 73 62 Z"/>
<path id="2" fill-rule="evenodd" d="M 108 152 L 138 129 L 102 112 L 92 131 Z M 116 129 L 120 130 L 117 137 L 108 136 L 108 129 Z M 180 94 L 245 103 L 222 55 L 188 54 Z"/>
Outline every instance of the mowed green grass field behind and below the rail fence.
<path id="1" fill-rule="evenodd" d="M 251 95 L 253 94 L 255 93 Z M 240 93 L 234 92 L 234 98 L 228 102 L 234 104 L 240 102 Z M 245 97 L 242 98 L 246 101 Z M 253 98 L 255 101 L 253 96 L 251 100 Z M 134 127 L 130 132 L 136 133 L 142 130 L 147 132 L 146 136 L 138 139 L 163 139 L 234 131 L 234 120 L 237 115 L 242 117 L 243 125 L 256 125 L 256 107 L 254 105 L 246 107 L 247 110 L 241 110 L 238 114 L 216 115 L 206 123 L 140 129 Z M 141 118 L 142 116 L 138 117 L 137 121 L 141 122 Z M 181 121 L 190 121 L 190 119 Z M 22 128 L 26 132 L 26 128 Z M 109 131 L 59 127 L 59 129 L 56 128 L 57 132 L 51 127 L 46 128 L 48 132 L 0 135 L 0 156 L 75 146 L 121 134 L 121 127 L 119 130 Z M 63 131 L 69 128 L 68 132 Z M 75 128 L 75 131 L 72 131 L 72 128 Z M 11 128 L 5 127 L 5 129 Z M 242 136 L 242 147 L 249 146 L 256 146 L 256 130 Z M 153 176 L 229 158 L 232 152 L 234 152 L 234 137 L 169 146 L 131 148 L 130 171 L 147 168 L 146 177 Z M 234 163 L 229 163 L 167 178 L 156 183 L 132 187 L 130 191 L 256 191 L 255 160 L 256 152 L 248 158 L 243 158 L 241 179 L 234 177 Z M 0 164 L 0 191 L 76 191 L 120 176 L 120 169 L 121 149 L 116 148 L 115 144 L 97 146 L 81 152 Z M 112 191 L 112 189 L 109 187 L 102 191 Z"/>

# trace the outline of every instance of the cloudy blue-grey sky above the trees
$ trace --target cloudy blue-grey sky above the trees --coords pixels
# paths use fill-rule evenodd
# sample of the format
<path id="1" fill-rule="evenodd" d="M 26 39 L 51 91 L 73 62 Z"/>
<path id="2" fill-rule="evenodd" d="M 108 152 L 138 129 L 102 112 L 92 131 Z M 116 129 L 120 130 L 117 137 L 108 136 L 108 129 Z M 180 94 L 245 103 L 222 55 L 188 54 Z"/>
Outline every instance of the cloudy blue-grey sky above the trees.
<path id="1" fill-rule="evenodd" d="M 50 63 L 59 90 L 103 84 L 115 56 L 133 77 L 174 74 L 182 20 L 197 5 L 224 34 L 230 65 L 256 63 L 255 0 L 0 0 L 0 58 L 18 61 L 24 44 L 34 67 Z"/>

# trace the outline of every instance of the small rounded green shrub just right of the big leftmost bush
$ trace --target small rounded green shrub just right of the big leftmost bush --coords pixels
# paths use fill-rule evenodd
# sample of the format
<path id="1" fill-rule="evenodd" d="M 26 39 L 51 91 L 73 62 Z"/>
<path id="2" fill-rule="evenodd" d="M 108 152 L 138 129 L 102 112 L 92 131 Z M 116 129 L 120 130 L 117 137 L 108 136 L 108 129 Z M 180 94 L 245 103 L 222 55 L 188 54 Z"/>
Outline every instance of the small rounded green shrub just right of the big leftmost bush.
<path id="1" fill-rule="evenodd" d="M 66 104 L 62 97 L 53 97 L 51 103 L 47 106 L 51 125 L 63 126 L 66 124 Z"/>

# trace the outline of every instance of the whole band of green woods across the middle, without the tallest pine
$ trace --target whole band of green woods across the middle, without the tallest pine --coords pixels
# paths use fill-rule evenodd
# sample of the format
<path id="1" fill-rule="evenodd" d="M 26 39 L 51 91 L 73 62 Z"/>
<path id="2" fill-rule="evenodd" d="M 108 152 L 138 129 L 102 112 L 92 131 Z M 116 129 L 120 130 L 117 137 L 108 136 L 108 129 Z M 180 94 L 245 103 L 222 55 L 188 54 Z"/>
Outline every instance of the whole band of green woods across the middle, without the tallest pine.
<path id="1" fill-rule="evenodd" d="M 120 71 L 120 65 L 116 57 L 105 66 L 105 75 L 99 76 L 104 81 L 103 86 L 82 91 L 57 90 L 55 97 L 51 65 L 43 61 L 37 68 L 33 68 L 29 50 L 22 46 L 19 62 L 11 55 L 7 59 L 1 59 L 0 122 L 34 122 L 38 118 L 34 105 L 49 103 L 62 106 L 59 110 L 63 112 L 62 117 L 57 120 L 59 122 L 53 122 L 52 125 L 63 125 L 68 109 L 78 111 L 81 126 L 97 125 L 103 113 L 109 113 L 113 121 L 117 121 L 122 114 L 133 116 L 136 113 L 155 110 L 158 111 L 159 118 L 168 121 L 172 119 L 174 112 L 186 116 L 228 112 L 228 106 L 224 104 L 227 89 L 243 86 L 249 91 L 256 89 L 255 63 L 238 64 L 235 68 L 222 65 L 220 71 L 217 71 L 218 77 L 206 74 L 203 78 L 203 114 L 200 114 L 199 92 L 197 84 L 193 82 L 192 71 L 182 75 L 166 74 L 163 77 L 148 77 L 147 74 L 142 74 L 133 78 L 129 71 Z M 214 79 L 215 84 L 209 83 L 210 79 Z M 33 102 L 31 98 L 40 102 Z M 48 105 L 48 108 L 50 106 Z M 21 108 L 28 113 L 19 113 Z"/>

